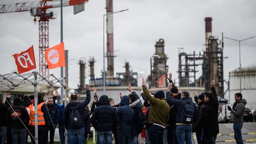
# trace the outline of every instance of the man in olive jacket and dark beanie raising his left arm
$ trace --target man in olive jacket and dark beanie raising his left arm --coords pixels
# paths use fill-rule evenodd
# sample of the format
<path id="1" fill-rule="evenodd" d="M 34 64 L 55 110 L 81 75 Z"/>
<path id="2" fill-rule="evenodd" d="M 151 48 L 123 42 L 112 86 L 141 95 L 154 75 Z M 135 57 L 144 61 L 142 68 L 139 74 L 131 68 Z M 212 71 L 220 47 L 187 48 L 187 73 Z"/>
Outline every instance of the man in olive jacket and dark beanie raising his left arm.
<path id="1" fill-rule="evenodd" d="M 151 143 L 163 143 L 164 130 L 169 119 L 169 105 L 165 101 L 163 91 L 158 91 L 151 97 L 146 88 L 146 81 L 142 78 L 142 89 L 148 101 L 151 103 L 148 125 Z"/>

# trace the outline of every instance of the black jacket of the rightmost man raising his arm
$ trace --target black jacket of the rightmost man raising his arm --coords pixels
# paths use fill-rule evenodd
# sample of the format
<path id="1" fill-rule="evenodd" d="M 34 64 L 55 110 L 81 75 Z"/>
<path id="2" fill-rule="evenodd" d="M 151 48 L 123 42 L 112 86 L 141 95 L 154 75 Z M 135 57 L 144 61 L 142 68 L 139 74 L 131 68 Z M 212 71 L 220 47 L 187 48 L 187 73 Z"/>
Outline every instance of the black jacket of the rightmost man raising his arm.
<path id="1" fill-rule="evenodd" d="M 205 103 L 197 121 L 197 126 L 203 128 L 205 136 L 216 136 L 219 133 L 219 123 L 217 120 L 219 103 L 217 101 L 217 95 L 213 95 L 215 98 Z"/>

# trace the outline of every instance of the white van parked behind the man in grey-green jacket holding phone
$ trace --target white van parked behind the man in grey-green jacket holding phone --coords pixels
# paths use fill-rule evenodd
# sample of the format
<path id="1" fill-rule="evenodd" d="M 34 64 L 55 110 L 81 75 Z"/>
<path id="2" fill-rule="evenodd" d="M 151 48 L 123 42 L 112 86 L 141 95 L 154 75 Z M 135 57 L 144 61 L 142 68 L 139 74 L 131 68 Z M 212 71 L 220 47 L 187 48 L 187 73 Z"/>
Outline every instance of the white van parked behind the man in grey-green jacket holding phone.
<path id="1" fill-rule="evenodd" d="M 229 123 L 231 111 L 228 110 L 228 105 L 232 107 L 231 104 L 219 105 L 219 123 Z"/>

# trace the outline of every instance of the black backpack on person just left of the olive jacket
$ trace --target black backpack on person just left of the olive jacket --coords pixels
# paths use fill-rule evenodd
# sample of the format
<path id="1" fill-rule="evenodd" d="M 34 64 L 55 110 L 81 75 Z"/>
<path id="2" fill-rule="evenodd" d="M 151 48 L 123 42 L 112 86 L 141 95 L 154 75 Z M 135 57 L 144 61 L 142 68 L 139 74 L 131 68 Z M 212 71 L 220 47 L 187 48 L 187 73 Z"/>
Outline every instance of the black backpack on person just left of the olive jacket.
<path id="1" fill-rule="evenodd" d="M 142 130 L 146 127 L 147 119 L 142 111 L 135 111 L 135 115 L 133 117 L 133 129 L 135 129 L 133 134 L 139 135 Z"/>

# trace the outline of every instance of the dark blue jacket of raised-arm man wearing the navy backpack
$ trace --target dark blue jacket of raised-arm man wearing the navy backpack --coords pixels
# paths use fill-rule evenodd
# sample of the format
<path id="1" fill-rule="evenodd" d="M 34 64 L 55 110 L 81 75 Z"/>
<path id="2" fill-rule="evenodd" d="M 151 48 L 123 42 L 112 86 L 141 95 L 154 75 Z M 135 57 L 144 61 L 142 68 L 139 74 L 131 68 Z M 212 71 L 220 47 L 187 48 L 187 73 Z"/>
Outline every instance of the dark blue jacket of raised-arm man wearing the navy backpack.
<path id="1" fill-rule="evenodd" d="M 171 98 L 171 92 L 167 91 L 166 101 L 169 105 L 174 105 L 177 108 L 176 123 L 182 123 L 183 121 L 180 121 L 180 115 L 181 115 L 181 112 L 182 112 L 183 108 L 185 107 L 185 104 L 188 103 L 188 102 L 191 102 L 190 98 L 185 97 L 182 100 L 175 100 L 174 98 Z M 198 119 L 197 107 L 193 102 L 191 102 L 191 103 L 194 106 L 194 118 L 193 118 L 193 120 L 195 121 L 195 120 Z"/>

